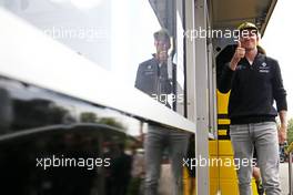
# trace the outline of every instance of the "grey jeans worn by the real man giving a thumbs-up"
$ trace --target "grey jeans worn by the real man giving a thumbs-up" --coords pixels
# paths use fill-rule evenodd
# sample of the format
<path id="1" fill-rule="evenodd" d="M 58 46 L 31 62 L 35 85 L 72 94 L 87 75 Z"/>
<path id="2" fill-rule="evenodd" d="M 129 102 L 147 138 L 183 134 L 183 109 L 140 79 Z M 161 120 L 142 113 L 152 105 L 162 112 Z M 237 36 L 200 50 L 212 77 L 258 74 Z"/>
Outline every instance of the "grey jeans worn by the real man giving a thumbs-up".
<path id="1" fill-rule="evenodd" d="M 263 187 L 266 195 L 280 195 L 279 178 L 279 141 L 275 122 L 250 123 L 230 126 L 230 136 L 234 151 L 234 161 L 252 162 L 256 148 L 257 166 L 261 170 Z M 235 161 L 236 162 L 236 161 Z M 251 163 L 240 163 L 238 168 L 240 195 L 252 195 Z"/>

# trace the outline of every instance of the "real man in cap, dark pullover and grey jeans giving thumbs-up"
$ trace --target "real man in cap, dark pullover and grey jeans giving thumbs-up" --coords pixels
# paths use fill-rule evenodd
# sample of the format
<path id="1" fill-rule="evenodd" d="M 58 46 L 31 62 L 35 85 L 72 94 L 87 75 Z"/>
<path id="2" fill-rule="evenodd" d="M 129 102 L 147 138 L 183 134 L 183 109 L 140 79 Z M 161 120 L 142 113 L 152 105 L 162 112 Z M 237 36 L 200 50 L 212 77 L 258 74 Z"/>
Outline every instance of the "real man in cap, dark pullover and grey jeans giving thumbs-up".
<path id="1" fill-rule="evenodd" d="M 244 22 L 239 27 L 240 40 L 230 63 L 223 69 L 219 90 L 228 93 L 230 136 L 238 170 L 241 195 L 251 195 L 253 150 L 257 152 L 257 165 L 262 173 L 266 195 L 280 195 L 279 138 L 286 140 L 286 92 L 276 60 L 257 51 L 259 30 Z M 273 103 L 276 102 L 276 109 Z M 275 116 L 281 127 L 276 129 Z"/>

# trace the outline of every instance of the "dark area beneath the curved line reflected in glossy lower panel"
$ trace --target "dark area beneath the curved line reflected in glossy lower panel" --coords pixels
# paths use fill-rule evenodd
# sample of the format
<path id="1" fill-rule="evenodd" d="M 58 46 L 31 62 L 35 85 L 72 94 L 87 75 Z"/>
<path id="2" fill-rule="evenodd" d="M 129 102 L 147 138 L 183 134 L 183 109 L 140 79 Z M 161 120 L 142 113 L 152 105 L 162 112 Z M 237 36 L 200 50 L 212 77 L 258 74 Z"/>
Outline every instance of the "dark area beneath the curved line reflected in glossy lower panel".
<path id="1" fill-rule="evenodd" d="M 32 133 L 0 145 L 1 191 L 11 195 L 138 195 L 133 178 L 144 173 L 142 147 L 111 129 Z"/>

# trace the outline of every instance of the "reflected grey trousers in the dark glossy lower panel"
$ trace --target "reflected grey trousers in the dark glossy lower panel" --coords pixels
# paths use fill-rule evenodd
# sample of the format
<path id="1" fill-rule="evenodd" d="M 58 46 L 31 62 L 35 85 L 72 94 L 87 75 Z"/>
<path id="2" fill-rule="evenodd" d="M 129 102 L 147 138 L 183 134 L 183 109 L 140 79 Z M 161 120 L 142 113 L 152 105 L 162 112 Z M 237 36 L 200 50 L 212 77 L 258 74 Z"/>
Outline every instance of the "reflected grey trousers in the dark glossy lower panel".
<path id="1" fill-rule="evenodd" d="M 165 148 L 169 151 L 173 175 L 173 185 L 170 187 L 173 187 L 173 195 L 182 194 L 182 162 L 188 150 L 189 135 L 190 134 L 185 132 L 174 132 L 168 129 L 149 125 L 149 131 L 144 142 L 144 195 L 158 194 L 158 182 L 160 178 L 162 155 Z"/>

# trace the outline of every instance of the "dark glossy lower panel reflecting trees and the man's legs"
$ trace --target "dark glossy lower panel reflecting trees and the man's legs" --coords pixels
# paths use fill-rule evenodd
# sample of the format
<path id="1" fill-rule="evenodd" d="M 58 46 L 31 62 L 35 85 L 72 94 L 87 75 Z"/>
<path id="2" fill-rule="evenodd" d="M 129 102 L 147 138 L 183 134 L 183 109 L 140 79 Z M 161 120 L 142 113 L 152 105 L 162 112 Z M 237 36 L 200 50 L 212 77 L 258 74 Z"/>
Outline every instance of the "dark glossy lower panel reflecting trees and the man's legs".
<path id="1" fill-rule="evenodd" d="M 163 171 L 149 189 L 160 178 L 160 192 L 182 191 L 189 133 L 1 76 L 0 100 L 3 192 L 138 195 L 159 173 L 148 165 Z"/>

